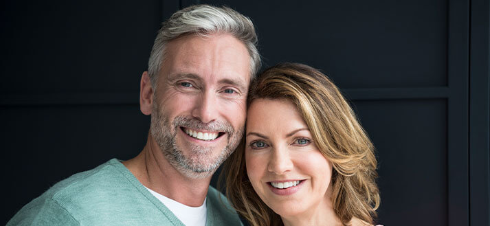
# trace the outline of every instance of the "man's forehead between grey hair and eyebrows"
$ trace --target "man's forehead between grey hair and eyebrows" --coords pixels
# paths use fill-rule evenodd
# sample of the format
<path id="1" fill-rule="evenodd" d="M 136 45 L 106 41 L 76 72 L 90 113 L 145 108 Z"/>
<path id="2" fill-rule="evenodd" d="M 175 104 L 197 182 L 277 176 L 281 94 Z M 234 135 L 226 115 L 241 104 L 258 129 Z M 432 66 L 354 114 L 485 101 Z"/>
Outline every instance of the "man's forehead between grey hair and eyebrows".
<path id="1" fill-rule="evenodd" d="M 193 78 L 248 88 L 250 58 L 233 36 L 190 36 L 171 41 L 162 69 L 169 80 Z"/>

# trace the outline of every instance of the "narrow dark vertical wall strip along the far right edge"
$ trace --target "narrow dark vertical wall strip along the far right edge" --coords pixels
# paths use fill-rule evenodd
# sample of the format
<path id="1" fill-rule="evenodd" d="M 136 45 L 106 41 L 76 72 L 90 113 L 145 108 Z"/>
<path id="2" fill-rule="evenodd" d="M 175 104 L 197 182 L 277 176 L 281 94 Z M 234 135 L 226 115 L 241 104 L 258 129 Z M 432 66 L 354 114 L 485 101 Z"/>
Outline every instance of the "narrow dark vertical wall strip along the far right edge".
<path id="1" fill-rule="evenodd" d="M 490 3 L 471 1 L 469 207 L 471 225 L 490 225 Z"/>

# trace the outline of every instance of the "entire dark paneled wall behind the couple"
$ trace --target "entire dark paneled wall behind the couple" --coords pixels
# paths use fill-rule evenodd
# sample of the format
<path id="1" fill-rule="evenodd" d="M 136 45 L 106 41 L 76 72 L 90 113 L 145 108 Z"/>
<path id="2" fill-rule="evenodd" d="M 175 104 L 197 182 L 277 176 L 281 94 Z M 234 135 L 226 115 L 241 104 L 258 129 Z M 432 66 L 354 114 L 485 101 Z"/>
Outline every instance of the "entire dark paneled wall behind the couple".
<path id="1" fill-rule="evenodd" d="M 3 1 L 0 223 L 140 152 L 140 76 L 159 23 L 192 3 L 249 16 L 265 67 L 305 63 L 341 87 L 377 148 L 379 223 L 490 225 L 488 0 Z"/>

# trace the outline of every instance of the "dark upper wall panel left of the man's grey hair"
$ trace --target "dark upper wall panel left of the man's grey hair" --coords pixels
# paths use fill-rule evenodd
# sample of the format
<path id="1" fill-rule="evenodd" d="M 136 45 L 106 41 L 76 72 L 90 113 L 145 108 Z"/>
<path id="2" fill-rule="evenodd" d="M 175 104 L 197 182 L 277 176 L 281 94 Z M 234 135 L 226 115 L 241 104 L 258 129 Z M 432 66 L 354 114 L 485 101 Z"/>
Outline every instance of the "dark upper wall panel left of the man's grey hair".
<path id="1" fill-rule="evenodd" d="M 4 1 L 2 93 L 138 92 L 159 1 Z"/>

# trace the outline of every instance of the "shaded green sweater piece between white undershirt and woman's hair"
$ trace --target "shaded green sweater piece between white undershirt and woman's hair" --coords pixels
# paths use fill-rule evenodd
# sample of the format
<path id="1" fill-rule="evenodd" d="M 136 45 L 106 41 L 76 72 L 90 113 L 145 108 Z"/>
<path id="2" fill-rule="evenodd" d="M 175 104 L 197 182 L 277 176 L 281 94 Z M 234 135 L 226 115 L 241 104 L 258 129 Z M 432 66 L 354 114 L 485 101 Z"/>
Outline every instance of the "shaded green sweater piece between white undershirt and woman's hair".
<path id="1" fill-rule="evenodd" d="M 221 192 L 209 186 L 206 199 L 208 218 L 211 217 L 212 225 L 241 225 L 240 218 L 235 209 Z"/>

